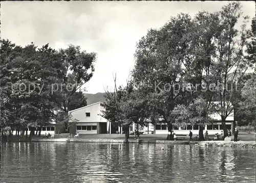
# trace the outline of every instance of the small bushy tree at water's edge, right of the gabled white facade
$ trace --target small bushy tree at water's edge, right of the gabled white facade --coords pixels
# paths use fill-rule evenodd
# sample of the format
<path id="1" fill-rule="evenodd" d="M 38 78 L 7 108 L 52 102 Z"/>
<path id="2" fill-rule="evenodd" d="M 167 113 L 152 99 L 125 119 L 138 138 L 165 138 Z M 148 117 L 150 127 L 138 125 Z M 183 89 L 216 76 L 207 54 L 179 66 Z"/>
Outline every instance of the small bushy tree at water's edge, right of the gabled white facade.
<path id="1" fill-rule="evenodd" d="M 133 82 L 127 82 L 125 87 L 116 86 L 116 76 L 114 79 L 114 92 L 106 91 L 105 110 L 102 111 L 102 117 L 110 122 L 122 126 L 125 133 L 125 142 L 128 142 L 129 127 L 135 122 L 144 124 L 144 100 L 139 97 Z"/>

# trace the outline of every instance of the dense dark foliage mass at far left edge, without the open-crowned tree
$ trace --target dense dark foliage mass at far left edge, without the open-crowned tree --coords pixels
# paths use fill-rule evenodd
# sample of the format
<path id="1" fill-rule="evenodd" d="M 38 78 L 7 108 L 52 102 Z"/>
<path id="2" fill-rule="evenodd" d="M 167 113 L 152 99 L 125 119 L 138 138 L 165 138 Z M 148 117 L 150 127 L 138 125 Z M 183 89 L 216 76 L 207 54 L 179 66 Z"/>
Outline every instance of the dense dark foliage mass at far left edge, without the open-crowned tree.
<path id="1" fill-rule="evenodd" d="M 8 126 L 18 131 L 47 125 L 54 119 L 56 103 L 51 85 L 58 82 L 55 50 L 48 45 L 37 47 L 31 43 L 16 46 L 1 40 L 1 97 L 4 111 L 9 111 Z"/>

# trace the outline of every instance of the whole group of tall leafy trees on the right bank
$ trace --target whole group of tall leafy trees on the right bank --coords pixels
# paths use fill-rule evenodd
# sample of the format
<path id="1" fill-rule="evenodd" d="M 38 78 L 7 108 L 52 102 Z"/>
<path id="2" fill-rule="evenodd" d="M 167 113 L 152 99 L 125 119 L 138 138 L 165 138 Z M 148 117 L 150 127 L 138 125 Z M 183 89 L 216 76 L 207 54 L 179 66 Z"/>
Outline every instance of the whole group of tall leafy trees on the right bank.
<path id="1" fill-rule="evenodd" d="M 193 19 L 180 14 L 161 29 L 148 31 L 139 41 L 134 80 L 144 84 L 148 98 L 153 98 L 153 111 L 168 124 L 169 131 L 175 106 L 188 105 L 199 97 L 205 106 L 220 101 L 216 112 L 222 118 L 224 136 L 227 135 L 225 120 L 233 111 L 231 101 L 236 95 L 233 85 L 255 62 L 247 58 L 251 51 L 245 51 L 250 31 L 245 23 L 241 31 L 235 28 L 241 16 L 238 2 L 214 13 L 199 12 Z M 244 17 L 244 21 L 247 19 Z M 185 92 L 180 89 L 184 84 L 189 84 Z M 233 88 L 229 90 L 230 87 Z M 207 118 L 207 113 L 200 114 Z M 201 139 L 203 126 L 199 130 Z"/>

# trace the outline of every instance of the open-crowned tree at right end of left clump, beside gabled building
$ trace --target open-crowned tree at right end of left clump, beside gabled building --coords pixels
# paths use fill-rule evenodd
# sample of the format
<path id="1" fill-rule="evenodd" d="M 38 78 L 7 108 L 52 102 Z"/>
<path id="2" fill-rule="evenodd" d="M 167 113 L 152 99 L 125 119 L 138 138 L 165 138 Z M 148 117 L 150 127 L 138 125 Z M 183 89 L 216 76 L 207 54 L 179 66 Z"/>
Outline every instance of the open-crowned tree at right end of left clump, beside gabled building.
<path id="1" fill-rule="evenodd" d="M 80 46 L 74 45 L 60 49 L 58 54 L 62 63 L 58 72 L 61 82 L 55 84 L 54 94 L 58 108 L 68 114 L 69 111 L 87 104 L 82 92 L 77 91 L 92 78 L 96 54 L 81 51 Z M 68 128 L 67 121 L 61 124 Z"/>

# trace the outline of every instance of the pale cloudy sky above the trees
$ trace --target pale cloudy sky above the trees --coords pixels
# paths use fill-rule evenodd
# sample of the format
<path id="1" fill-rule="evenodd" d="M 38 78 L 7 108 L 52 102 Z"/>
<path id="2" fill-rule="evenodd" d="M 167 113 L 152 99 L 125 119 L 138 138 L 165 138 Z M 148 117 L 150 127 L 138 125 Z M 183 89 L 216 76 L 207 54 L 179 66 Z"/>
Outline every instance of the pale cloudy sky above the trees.
<path id="1" fill-rule="evenodd" d="M 171 16 L 201 10 L 214 12 L 228 2 L 61 1 L 1 2 L 1 39 L 25 46 L 49 43 L 55 49 L 79 45 L 97 53 L 87 93 L 125 85 L 134 67 L 136 43 L 148 29 L 162 27 Z M 241 2 L 244 15 L 255 16 L 255 2 Z M 248 27 L 250 23 L 248 24 Z"/>

